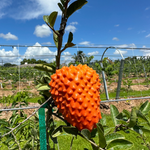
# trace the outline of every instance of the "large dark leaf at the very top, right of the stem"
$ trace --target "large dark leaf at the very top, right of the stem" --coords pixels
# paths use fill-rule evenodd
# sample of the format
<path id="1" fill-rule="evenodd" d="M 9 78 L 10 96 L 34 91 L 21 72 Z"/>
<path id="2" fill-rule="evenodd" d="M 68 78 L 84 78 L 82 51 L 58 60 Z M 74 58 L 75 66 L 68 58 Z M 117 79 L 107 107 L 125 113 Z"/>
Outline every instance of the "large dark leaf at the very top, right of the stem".
<path id="1" fill-rule="evenodd" d="M 82 8 L 87 3 L 86 0 L 76 0 L 67 9 L 67 18 L 69 18 L 76 10 Z"/>

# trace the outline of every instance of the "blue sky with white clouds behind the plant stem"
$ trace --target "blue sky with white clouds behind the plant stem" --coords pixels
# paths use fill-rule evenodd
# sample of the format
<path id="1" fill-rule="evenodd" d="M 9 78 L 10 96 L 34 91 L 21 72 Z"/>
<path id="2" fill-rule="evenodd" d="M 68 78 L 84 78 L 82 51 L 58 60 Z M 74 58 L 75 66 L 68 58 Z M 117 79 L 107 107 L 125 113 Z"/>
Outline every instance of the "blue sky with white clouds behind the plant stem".
<path id="1" fill-rule="evenodd" d="M 71 0 L 72 1 L 72 0 Z M 54 45 L 52 31 L 43 21 L 43 15 L 58 11 L 55 29 L 59 29 L 61 12 L 59 0 L 1 0 L 0 1 L 0 44 L 1 45 Z M 150 1 L 149 0 L 88 0 L 88 3 L 75 12 L 68 20 L 64 35 L 65 43 L 69 31 L 74 33 L 73 42 L 78 46 L 117 46 L 130 48 L 150 47 Z M 62 57 L 69 61 L 77 50 L 85 54 L 101 55 L 104 49 L 67 49 Z M 124 56 L 149 56 L 150 51 L 120 49 Z M 107 55 L 114 59 L 116 49 L 108 50 Z M 0 47 L 0 62 L 20 62 L 24 55 L 56 55 L 55 48 L 48 47 Z M 3 57 L 2 57 L 3 56 Z M 114 57 L 113 57 L 114 56 Z M 98 57 L 97 57 L 98 58 Z M 37 59 L 49 60 L 49 57 Z M 96 56 L 95 56 L 96 59 Z"/>

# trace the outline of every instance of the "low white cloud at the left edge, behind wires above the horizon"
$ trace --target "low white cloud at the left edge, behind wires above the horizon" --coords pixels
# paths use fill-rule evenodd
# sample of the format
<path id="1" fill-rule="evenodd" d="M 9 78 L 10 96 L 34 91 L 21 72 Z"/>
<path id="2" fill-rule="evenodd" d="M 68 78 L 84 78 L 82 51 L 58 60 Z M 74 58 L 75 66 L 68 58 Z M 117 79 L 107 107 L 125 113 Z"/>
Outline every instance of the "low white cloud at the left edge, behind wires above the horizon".
<path id="1" fill-rule="evenodd" d="M 0 62 L 3 63 L 12 63 L 12 64 L 19 64 L 22 60 L 19 58 L 19 50 L 14 47 L 13 50 L 6 51 L 4 48 L 0 49 Z M 1 63 L 0 63 L 1 64 Z"/>

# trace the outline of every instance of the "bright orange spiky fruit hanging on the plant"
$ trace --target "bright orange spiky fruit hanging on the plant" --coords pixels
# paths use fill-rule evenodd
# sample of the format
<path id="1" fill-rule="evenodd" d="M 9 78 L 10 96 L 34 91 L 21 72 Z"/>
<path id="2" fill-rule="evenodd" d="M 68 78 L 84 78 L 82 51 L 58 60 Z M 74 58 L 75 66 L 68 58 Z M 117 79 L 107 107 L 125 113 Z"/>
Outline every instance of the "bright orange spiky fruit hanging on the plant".
<path id="1" fill-rule="evenodd" d="M 100 79 L 87 65 L 63 67 L 51 76 L 50 92 L 60 113 L 78 130 L 96 127 L 101 119 Z"/>

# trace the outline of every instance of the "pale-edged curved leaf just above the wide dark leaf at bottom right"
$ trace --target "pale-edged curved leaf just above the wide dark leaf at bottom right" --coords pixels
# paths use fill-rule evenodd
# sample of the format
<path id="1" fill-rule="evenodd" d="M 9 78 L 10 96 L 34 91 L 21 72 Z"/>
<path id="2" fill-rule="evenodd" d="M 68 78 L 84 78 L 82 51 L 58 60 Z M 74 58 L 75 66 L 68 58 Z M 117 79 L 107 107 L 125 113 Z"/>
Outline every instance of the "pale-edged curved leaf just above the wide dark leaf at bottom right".
<path id="1" fill-rule="evenodd" d="M 115 139 L 124 139 L 125 137 L 119 133 L 111 133 L 105 136 L 107 144 Z"/>

